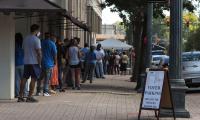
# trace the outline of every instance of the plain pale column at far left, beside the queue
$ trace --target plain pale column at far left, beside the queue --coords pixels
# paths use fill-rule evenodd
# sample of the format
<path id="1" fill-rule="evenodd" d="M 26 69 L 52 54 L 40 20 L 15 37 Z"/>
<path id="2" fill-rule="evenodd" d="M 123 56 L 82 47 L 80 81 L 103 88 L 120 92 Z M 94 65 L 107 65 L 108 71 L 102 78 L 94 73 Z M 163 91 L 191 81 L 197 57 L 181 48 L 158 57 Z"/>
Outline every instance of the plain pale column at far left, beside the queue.
<path id="1" fill-rule="evenodd" d="M 0 14 L 0 99 L 14 98 L 15 21 L 14 15 Z"/>

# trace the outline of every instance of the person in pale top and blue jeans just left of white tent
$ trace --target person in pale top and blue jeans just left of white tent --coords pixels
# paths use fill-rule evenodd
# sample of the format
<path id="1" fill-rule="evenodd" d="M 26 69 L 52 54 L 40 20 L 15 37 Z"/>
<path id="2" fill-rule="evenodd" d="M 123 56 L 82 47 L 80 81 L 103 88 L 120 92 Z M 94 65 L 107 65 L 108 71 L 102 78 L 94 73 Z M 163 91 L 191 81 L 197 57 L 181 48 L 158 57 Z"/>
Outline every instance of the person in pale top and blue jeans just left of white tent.
<path id="1" fill-rule="evenodd" d="M 96 57 L 97 57 L 96 77 L 105 79 L 104 71 L 103 71 L 103 58 L 105 56 L 105 53 L 104 53 L 104 50 L 101 48 L 101 44 L 97 45 L 97 49 L 95 50 L 95 54 L 96 54 Z"/>

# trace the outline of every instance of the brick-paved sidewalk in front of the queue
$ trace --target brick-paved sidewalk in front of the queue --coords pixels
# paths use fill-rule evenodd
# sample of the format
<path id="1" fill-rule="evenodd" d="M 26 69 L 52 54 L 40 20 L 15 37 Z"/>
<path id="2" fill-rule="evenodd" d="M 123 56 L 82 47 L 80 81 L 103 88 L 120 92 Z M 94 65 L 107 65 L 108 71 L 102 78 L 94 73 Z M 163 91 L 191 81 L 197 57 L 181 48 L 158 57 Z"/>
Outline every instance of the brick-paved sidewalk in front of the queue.
<path id="1" fill-rule="evenodd" d="M 0 101 L 0 120 L 137 120 L 141 95 L 134 91 L 130 76 L 106 76 L 87 81 L 82 90 L 67 90 L 51 97 L 37 97 L 39 103 Z M 188 94 L 190 119 L 200 119 L 200 94 Z M 142 111 L 142 120 L 156 120 L 154 112 Z M 172 118 L 161 118 L 172 120 Z"/>

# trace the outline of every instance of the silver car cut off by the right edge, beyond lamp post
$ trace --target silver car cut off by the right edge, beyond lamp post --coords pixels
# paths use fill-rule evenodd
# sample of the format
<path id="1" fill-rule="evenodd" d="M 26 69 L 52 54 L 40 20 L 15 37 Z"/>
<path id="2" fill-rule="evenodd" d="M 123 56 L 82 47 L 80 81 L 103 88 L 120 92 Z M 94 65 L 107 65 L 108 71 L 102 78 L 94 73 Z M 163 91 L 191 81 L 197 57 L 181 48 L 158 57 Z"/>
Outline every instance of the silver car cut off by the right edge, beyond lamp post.
<path id="1" fill-rule="evenodd" d="M 200 86 L 200 51 L 182 54 L 182 74 L 188 87 Z"/>

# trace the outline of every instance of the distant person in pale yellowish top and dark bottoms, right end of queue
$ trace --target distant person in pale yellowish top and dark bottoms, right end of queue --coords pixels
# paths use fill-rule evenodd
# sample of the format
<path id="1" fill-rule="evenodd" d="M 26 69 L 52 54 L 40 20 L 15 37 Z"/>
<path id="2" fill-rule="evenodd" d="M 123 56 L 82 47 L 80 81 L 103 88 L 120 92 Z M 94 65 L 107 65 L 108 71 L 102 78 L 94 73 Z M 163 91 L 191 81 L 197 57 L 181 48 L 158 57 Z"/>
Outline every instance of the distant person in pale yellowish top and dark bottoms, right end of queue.
<path id="1" fill-rule="evenodd" d="M 128 56 L 126 55 L 126 52 L 122 53 L 122 57 L 121 57 L 121 75 L 126 75 L 126 70 L 127 70 L 127 65 L 128 65 Z"/>

